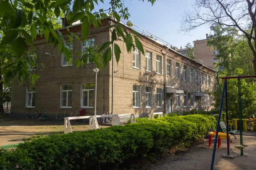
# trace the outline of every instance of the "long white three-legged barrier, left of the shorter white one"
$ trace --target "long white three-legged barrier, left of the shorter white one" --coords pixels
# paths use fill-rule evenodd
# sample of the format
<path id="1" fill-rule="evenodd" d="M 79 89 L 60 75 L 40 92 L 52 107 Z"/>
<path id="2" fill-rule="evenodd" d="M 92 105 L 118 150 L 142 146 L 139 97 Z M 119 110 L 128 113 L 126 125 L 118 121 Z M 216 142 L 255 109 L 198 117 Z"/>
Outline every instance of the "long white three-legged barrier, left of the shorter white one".
<path id="1" fill-rule="evenodd" d="M 99 129 L 99 123 L 97 117 L 112 117 L 112 126 L 113 125 L 120 125 L 119 116 L 118 114 L 114 115 L 96 115 L 96 116 L 76 116 L 76 117 L 65 117 L 64 119 L 64 133 L 72 133 L 72 128 L 70 125 L 70 120 L 77 120 L 77 119 L 89 119 L 89 129 Z"/>

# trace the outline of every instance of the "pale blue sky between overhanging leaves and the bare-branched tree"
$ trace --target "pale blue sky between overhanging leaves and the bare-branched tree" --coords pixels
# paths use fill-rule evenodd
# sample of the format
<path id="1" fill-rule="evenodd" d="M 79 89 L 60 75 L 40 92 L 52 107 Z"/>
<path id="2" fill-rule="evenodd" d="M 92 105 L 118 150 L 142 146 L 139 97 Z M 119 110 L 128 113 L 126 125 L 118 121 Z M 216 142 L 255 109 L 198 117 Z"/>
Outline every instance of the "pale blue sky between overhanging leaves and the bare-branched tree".
<path id="1" fill-rule="evenodd" d="M 108 9 L 109 0 L 99 3 L 97 8 Z M 151 34 L 160 37 L 162 40 L 180 48 L 187 42 L 205 38 L 210 33 L 209 26 L 201 26 L 191 31 L 190 34 L 179 33 L 181 15 L 184 10 L 191 9 L 194 0 L 156 0 L 153 6 L 144 0 L 124 0 L 125 7 L 128 7 L 131 22 Z"/>

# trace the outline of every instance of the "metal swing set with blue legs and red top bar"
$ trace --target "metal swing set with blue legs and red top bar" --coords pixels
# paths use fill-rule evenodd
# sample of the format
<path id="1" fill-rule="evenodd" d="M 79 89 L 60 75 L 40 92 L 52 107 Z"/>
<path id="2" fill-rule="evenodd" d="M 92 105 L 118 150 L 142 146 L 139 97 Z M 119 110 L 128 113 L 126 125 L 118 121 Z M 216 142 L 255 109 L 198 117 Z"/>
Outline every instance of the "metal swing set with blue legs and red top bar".
<path id="1" fill-rule="evenodd" d="M 215 151 L 216 151 L 216 145 L 217 145 L 217 140 L 218 139 L 218 131 L 219 131 L 219 126 L 220 126 L 220 120 L 221 120 L 221 109 L 223 106 L 223 101 L 224 101 L 224 94 L 225 94 L 225 102 L 226 102 L 226 122 L 228 122 L 228 110 L 227 110 L 227 79 L 237 79 L 238 81 L 238 103 L 239 103 L 239 127 L 240 127 L 240 145 L 236 145 L 236 148 L 241 149 L 240 155 L 244 156 L 243 149 L 244 147 L 247 147 L 248 145 L 243 144 L 243 132 L 242 132 L 242 109 L 241 109 L 241 79 L 244 78 L 256 78 L 256 75 L 254 76 L 235 76 L 235 77 L 221 77 L 221 79 L 224 79 L 224 84 L 223 84 L 223 90 L 221 94 L 221 105 L 220 105 L 220 110 L 219 110 L 219 115 L 218 115 L 218 121 L 217 121 L 217 128 L 216 128 L 216 136 L 215 136 L 215 141 L 214 141 L 214 147 L 213 147 L 213 152 L 212 152 L 212 163 L 211 163 L 211 170 L 213 170 L 213 164 L 214 164 L 214 159 L 215 159 Z M 227 132 L 229 131 L 228 125 L 227 127 Z M 229 150 L 229 133 L 227 133 L 227 155 L 224 155 L 224 157 L 230 157 L 233 158 L 233 156 L 230 156 L 230 150 Z"/>

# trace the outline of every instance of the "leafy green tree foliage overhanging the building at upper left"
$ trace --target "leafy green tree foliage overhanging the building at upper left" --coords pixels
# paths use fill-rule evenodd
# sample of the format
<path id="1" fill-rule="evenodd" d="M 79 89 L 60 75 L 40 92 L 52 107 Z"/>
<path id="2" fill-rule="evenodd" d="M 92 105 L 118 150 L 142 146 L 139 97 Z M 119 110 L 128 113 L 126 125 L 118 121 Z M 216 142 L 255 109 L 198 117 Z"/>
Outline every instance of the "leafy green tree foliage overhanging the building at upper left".
<path id="1" fill-rule="evenodd" d="M 64 53 L 67 61 L 70 59 L 71 52 L 65 43 L 64 36 L 68 36 L 72 42 L 73 38 L 79 40 L 73 32 L 67 28 L 67 34 L 62 35 L 55 30 L 60 17 L 64 17 L 68 24 L 72 25 L 76 21 L 81 21 L 82 39 L 85 40 L 90 34 L 91 25 L 98 27 L 101 20 L 108 17 L 103 9 L 95 11 L 94 6 L 104 0 L 1 0 L 0 1 L 0 75 L 3 76 L 5 85 L 10 84 L 14 77 L 19 83 L 30 79 L 34 84 L 39 78 L 33 69 L 35 60 L 27 55 L 28 45 L 34 49 L 33 41 L 38 33 L 44 35 L 47 43 L 55 47 L 58 46 L 59 53 Z M 144 0 L 143 0 L 144 1 Z M 124 6 L 122 0 L 110 0 L 111 11 L 116 20 L 113 26 L 112 39 L 105 42 L 100 48 L 88 48 L 86 54 L 75 63 L 79 67 L 83 66 L 89 57 L 90 62 L 94 62 L 97 67 L 105 67 L 111 60 L 111 45 L 117 37 L 122 37 L 127 51 L 137 48 L 144 54 L 140 35 L 136 31 L 128 33 L 120 24 L 120 19 L 128 20 L 130 14 L 128 8 Z M 155 0 L 148 0 L 153 5 Z M 54 15 L 55 16 L 54 16 Z M 57 19 L 54 19 L 54 18 Z M 133 43 L 135 41 L 135 45 Z M 80 40 L 79 40 L 80 41 Z M 114 43 L 114 53 L 116 61 L 119 61 L 121 50 Z M 106 50 L 105 50 L 106 49 Z M 101 52 L 105 50 L 102 54 Z M 33 71 L 29 71 L 32 68 Z"/>

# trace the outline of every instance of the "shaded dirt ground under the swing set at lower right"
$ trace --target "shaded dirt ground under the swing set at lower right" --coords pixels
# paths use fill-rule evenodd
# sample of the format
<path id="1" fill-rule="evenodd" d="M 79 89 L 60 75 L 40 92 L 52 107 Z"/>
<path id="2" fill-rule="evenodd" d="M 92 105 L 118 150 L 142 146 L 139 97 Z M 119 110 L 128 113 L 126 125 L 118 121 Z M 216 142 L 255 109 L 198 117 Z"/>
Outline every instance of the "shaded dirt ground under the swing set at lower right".
<path id="1" fill-rule="evenodd" d="M 216 149 L 214 170 L 256 170 L 256 137 L 255 132 L 243 132 L 243 144 L 249 145 L 244 148 L 244 155 L 241 157 L 240 149 L 234 147 L 240 144 L 239 132 L 236 132 L 237 139 L 232 136 L 230 144 L 230 155 L 237 156 L 233 159 L 225 158 L 227 155 L 227 142 L 221 140 L 220 149 Z M 250 136 L 247 136 L 250 135 Z M 180 155 L 169 157 L 166 162 L 152 168 L 152 170 L 209 170 L 212 160 L 212 151 L 215 138 L 212 139 L 212 147 L 208 147 L 208 140 Z"/>

